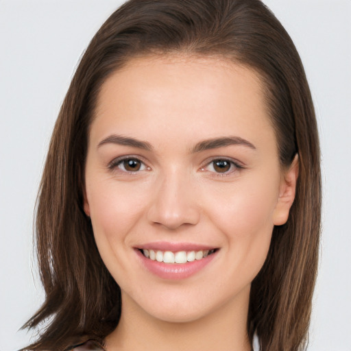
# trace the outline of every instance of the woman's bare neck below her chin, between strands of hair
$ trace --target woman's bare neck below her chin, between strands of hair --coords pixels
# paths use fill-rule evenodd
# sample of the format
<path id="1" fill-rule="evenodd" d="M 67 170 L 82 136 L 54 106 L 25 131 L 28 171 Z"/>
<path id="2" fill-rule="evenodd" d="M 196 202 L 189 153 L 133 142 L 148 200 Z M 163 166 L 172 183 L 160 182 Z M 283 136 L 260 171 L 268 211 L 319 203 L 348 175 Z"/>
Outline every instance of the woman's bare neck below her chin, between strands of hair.
<path id="1" fill-rule="evenodd" d="M 247 311 L 250 287 L 233 300 L 191 322 L 165 322 L 141 311 L 123 295 L 121 319 L 106 338 L 106 349 L 117 350 L 184 350 L 250 351 L 247 336 Z"/>

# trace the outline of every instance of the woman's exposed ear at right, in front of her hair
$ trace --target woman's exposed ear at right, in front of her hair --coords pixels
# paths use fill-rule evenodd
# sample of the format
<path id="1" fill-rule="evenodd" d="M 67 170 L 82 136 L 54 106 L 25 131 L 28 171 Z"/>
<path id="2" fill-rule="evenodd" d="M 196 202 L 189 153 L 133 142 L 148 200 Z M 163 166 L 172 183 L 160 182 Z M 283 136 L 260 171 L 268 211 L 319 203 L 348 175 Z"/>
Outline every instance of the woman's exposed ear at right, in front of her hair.
<path id="1" fill-rule="evenodd" d="M 282 173 L 279 185 L 279 197 L 274 209 L 273 222 L 275 226 L 287 223 L 289 210 L 295 199 L 296 182 L 299 175 L 299 158 L 295 155 L 289 169 Z"/>

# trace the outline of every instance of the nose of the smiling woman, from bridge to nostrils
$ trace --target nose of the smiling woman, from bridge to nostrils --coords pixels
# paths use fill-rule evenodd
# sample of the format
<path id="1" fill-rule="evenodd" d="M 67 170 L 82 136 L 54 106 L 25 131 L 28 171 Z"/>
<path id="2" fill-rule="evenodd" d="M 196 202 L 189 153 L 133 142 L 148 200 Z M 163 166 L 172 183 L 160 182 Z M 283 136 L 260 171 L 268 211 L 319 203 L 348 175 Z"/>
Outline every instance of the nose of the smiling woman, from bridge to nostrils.
<path id="1" fill-rule="evenodd" d="M 158 179 L 154 190 L 147 214 L 149 221 L 169 230 L 198 223 L 200 208 L 189 176 L 170 172 Z"/>

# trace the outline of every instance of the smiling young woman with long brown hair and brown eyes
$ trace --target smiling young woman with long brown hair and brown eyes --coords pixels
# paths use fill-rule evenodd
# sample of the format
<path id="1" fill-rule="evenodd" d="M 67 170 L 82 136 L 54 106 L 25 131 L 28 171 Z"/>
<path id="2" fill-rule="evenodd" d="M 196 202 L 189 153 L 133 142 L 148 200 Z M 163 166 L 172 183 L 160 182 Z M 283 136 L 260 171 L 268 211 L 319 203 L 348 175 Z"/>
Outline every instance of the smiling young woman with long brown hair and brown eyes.
<path id="1" fill-rule="evenodd" d="M 64 99 L 27 350 L 301 350 L 320 221 L 311 95 L 258 0 L 128 1 Z M 258 350 L 258 346 L 255 346 Z"/>

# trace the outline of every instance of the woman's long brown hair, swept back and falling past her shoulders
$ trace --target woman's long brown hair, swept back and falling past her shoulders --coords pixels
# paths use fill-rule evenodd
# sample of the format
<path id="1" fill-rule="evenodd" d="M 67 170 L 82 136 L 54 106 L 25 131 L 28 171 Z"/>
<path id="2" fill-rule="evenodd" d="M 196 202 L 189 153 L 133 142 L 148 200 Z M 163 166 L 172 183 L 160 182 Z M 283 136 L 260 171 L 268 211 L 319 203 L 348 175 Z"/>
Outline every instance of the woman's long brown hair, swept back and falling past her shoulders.
<path id="1" fill-rule="evenodd" d="M 120 289 L 101 261 L 83 210 L 88 129 L 99 89 L 136 56 L 187 53 L 256 71 L 283 167 L 299 156 L 289 219 L 274 228 L 265 265 L 252 282 L 247 332 L 263 351 L 306 345 L 317 272 L 321 208 L 319 141 L 311 93 L 293 42 L 260 0 L 130 0 L 91 40 L 56 122 L 36 213 L 46 300 L 25 324 L 46 323 L 26 350 L 102 342 L 119 322 Z"/>

